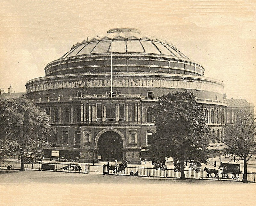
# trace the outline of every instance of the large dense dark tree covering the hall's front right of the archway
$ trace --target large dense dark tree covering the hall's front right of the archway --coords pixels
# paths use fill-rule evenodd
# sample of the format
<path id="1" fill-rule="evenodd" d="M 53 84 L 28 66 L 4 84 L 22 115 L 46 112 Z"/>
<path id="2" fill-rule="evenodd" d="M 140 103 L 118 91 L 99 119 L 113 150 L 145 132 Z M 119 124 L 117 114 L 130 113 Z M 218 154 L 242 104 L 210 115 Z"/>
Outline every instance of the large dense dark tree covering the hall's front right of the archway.
<path id="1" fill-rule="evenodd" d="M 154 106 L 156 133 L 149 140 L 149 153 L 156 169 L 165 170 L 165 158 L 174 159 L 180 179 L 185 180 L 185 162 L 198 169 L 206 162 L 210 129 L 196 102 L 195 96 L 186 92 L 169 93 L 158 98 Z"/>

